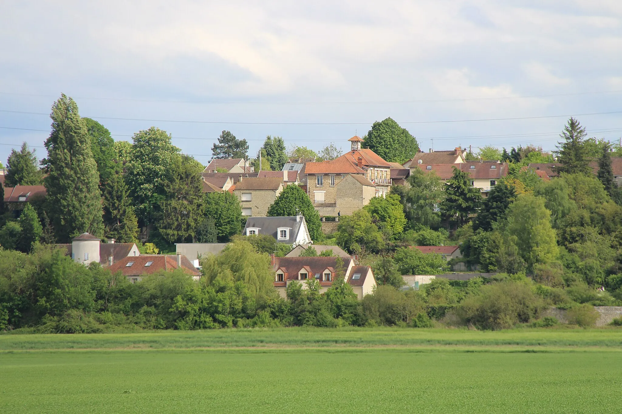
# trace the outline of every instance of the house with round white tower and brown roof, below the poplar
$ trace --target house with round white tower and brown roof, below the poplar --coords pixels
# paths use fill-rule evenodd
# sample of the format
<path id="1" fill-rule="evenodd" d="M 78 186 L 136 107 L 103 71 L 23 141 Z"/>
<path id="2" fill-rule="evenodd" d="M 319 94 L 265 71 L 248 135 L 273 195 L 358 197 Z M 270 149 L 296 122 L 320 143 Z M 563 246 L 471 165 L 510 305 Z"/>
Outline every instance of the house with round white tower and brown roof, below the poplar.
<path id="1" fill-rule="evenodd" d="M 65 249 L 67 256 L 71 256 L 73 261 L 85 266 L 92 262 L 100 263 L 104 267 L 112 266 L 128 256 L 136 257 L 141 254 L 136 243 L 116 243 L 113 238 L 108 239 L 108 243 L 101 243 L 99 237 L 89 233 L 73 238 L 72 243 L 61 243 L 57 246 Z"/>

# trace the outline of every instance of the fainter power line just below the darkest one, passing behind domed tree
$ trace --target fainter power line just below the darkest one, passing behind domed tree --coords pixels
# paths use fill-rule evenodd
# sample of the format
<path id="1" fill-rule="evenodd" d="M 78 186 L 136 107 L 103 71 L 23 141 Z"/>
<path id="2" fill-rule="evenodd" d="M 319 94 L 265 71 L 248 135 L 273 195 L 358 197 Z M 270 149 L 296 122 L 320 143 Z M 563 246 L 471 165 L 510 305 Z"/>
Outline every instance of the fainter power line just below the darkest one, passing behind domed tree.
<path id="1" fill-rule="evenodd" d="M 29 115 L 49 115 L 45 112 L 26 112 L 21 110 L 0 109 L 0 112 L 9 112 L 11 114 L 29 114 Z M 507 120 L 524 120 L 524 119 L 549 119 L 549 118 L 566 118 L 566 117 L 585 117 L 590 115 L 611 115 L 622 114 L 622 110 L 613 110 L 610 112 L 588 112 L 586 114 L 570 114 L 570 115 L 542 115 L 537 117 L 514 117 L 514 118 L 485 118 L 485 119 L 454 119 L 454 120 L 437 120 L 437 121 L 402 121 L 398 124 L 444 124 L 451 122 L 484 122 L 484 121 L 507 121 Z M 141 121 L 141 122 L 179 122 L 182 124 L 231 124 L 231 125 L 369 125 L 371 122 L 228 122 L 228 121 L 198 121 L 198 120 L 178 120 L 178 119 L 141 119 L 141 118 L 119 118 L 119 117 L 98 117 L 90 116 L 95 119 L 111 119 L 125 121 Z"/>

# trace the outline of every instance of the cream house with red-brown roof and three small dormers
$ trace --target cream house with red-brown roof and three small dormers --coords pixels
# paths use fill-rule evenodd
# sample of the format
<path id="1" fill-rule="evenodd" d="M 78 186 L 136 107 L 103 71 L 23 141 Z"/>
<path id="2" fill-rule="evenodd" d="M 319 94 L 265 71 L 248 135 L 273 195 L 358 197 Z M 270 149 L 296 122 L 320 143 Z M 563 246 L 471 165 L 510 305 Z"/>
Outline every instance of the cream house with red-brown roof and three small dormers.
<path id="1" fill-rule="evenodd" d="M 350 284 L 358 299 L 363 299 L 364 295 L 371 294 L 376 287 L 374 274 L 369 266 L 356 266 L 351 257 L 342 258 L 343 267 L 339 268 L 338 258 L 336 257 L 289 257 L 277 258 L 272 255 L 272 268 L 274 269 L 274 287 L 281 297 L 286 297 L 285 289 L 292 282 L 299 282 L 303 289 L 307 286 L 305 282 L 310 278 L 315 278 L 320 284 L 320 293 L 326 292 L 332 286 L 335 277 L 344 277 L 346 283 Z"/>

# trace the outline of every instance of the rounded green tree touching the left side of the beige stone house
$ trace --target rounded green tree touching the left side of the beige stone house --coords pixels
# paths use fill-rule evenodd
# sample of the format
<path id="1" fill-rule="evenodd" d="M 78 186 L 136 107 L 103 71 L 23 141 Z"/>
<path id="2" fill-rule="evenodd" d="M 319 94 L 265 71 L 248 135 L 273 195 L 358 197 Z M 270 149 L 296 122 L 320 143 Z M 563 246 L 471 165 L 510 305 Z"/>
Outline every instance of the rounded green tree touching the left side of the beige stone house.
<path id="1" fill-rule="evenodd" d="M 203 215 L 211 217 L 216 226 L 218 241 L 224 243 L 239 234 L 242 226 L 242 207 L 238 197 L 228 191 L 206 192 L 203 196 Z"/>

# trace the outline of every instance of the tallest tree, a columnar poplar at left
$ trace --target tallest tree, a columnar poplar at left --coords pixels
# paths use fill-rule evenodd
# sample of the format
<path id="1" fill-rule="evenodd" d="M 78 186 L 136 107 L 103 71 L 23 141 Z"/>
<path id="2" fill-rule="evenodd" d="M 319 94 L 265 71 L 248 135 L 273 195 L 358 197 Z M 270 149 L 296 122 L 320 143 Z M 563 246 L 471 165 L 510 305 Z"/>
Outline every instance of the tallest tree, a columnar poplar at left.
<path id="1" fill-rule="evenodd" d="M 52 133 L 45 141 L 47 177 L 45 209 L 57 240 L 68 242 L 73 235 L 103 233 L 101 192 L 97 164 L 91 153 L 86 125 L 73 99 L 63 94 L 52 106 Z"/>

